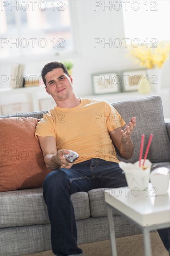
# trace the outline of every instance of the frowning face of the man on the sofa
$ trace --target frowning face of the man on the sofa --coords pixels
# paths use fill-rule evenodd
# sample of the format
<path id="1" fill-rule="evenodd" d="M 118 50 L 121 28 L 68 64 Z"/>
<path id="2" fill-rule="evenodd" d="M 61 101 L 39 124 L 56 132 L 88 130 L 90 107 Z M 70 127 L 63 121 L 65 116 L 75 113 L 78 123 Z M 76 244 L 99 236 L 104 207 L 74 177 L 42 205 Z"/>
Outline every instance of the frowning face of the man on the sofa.
<path id="1" fill-rule="evenodd" d="M 46 92 L 57 101 L 63 101 L 69 97 L 72 90 L 72 77 L 66 75 L 62 68 L 55 68 L 45 75 Z"/>

